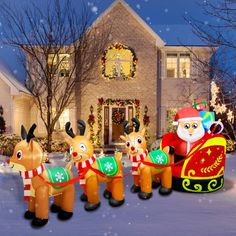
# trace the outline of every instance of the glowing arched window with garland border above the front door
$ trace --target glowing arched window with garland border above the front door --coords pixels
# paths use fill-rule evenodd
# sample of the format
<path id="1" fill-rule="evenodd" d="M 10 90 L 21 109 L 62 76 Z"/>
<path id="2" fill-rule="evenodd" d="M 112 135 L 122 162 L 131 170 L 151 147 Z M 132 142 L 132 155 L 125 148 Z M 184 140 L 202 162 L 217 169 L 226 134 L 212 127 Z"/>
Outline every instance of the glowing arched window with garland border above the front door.
<path id="1" fill-rule="evenodd" d="M 102 74 L 107 79 L 131 79 L 136 75 L 137 57 L 133 49 L 120 43 L 105 50 Z"/>

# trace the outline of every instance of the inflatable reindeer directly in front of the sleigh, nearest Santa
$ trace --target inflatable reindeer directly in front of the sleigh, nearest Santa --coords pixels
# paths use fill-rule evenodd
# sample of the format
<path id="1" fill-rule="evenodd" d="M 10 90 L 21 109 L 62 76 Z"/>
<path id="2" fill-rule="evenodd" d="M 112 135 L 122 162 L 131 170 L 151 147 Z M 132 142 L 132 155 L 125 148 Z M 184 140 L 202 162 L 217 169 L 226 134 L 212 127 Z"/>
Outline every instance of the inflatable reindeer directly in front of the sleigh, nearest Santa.
<path id="1" fill-rule="evenodd" d="M 131 192 L 138 192 L 141 199 L 149 199 L 152 196 L 152 181 L 159 179 L 161 182 L 159 193 L 161 195 L 170 194 L 172 172 L 169 164 L 173 162 L 173 149 L 166 147 L 163 151 L 156 150 L 148 153 L 145 128 L 139 131 L 140 123 L 137 118 L 133 118 L 132 122 L 134 132 L 130 133 L 128 121 L 125 121 L 125 136 L 120 136 L 125 141 L 128 157 L 132 161 L 134 184 Z"/>

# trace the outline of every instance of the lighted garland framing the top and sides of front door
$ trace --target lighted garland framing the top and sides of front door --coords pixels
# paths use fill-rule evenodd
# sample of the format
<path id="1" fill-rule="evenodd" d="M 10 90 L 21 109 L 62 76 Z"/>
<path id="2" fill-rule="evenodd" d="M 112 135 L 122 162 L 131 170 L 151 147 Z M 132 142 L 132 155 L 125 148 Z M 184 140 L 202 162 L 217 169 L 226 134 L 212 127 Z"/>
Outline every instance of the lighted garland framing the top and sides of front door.
<path id="1" fill-rule="evenodd" d="M 134 105 L 135 107 L 135 117 L 139 119 L 140 115 L 140 101 L 138 99 L 111 99 L 108 98 L 104 100 L 103 98 L 98 99 L 97 106 L 97 120 L 98 120 L 98 130 L 96 134 L 96 144 L 101 147 L 101 132 L 102 132 L 102 106 L 104 105 L 116 105 L 116 106 L 128 106 Z"/>

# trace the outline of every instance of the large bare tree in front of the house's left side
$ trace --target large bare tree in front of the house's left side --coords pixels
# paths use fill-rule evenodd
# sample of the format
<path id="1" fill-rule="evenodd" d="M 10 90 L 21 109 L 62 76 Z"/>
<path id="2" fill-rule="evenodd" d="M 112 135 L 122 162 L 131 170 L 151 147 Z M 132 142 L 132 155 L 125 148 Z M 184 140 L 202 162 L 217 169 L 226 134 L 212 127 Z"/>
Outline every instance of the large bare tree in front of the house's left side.
<path id="1" fill-rule="evenodd" d="M 78 13 L 79 12 L 79 13 Z M 4 43 L 21 49 L 20 61 L 40 117 L 47 130 L 47 151 L 62 112 L 75 98 L 75 85 L 92 83 L 89 75 L 107 44 L 110 26 L 91 27 L 83 1 L 48 1 L 41 7 L 29 1 L 21 9 L 2 4 L 7 25 Z"/>

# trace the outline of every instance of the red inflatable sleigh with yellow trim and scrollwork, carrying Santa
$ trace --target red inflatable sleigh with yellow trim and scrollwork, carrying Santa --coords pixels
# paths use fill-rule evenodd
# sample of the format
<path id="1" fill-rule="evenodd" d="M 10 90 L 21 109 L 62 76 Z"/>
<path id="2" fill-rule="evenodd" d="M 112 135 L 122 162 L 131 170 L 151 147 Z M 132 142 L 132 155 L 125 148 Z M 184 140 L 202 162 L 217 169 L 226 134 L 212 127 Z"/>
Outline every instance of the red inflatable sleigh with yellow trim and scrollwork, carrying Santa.
<path id="1" fill-rule="evenodd" d="M 163 136 L 161 148 L 170 145 L 170 135 Z M 222 188 L 226 157 L 226 140 L 220 134 L 207 135 L 188 155 L 172 166 L 173 189 L 206 193 Z"/>

